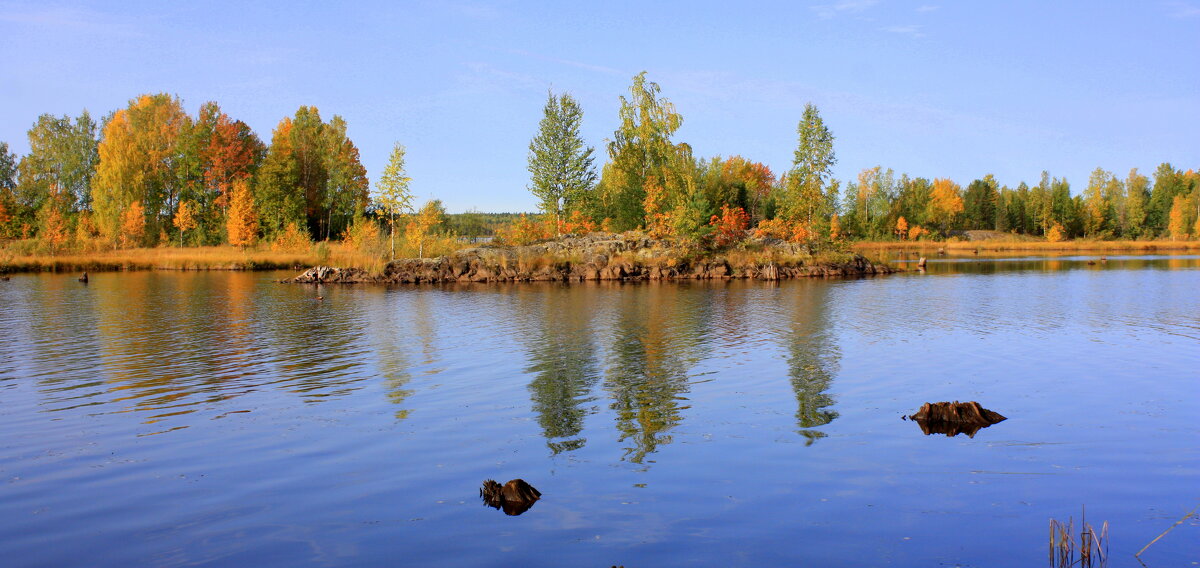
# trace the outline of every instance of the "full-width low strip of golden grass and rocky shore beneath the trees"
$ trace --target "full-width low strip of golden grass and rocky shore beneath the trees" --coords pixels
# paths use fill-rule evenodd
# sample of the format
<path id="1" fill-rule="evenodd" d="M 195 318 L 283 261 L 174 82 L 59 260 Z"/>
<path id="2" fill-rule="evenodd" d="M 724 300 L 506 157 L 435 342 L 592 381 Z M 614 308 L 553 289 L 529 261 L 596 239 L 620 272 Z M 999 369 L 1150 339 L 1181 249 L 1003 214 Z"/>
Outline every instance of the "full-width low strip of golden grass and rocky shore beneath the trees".
<path id="1" fill-rule="evenodd" d="M 1200 240 L 1066 240 L 1051 243 L 1020 235 L 989 235 L 982 240 L 877 240 L 797 244 L 769 238 L 748 238 L 726 249 L 704 249 L 684 240 L 652 239 L 644 232 L 622 234 L 592 233 L 586 237 L 564 235 L 526 245 L 487 244 L 479 246 L 470 240 L 440 239 L 426 244 L 438 255 L 433 258 L 397 258 L 389 262 L 380 250 L 386 241 L 317 243 L 298 247 L 278 246 L 240 249 L 230 245 L 188 247 L 144 247 L 59 253 L 16 253 L 0 247 L 0 274 L 16 273 L 77 273 L 125 270 L 306 270 L 316 267 L 336 267 L 354 281 L 449 281 L 451 265 L 474 262 L 475 267 L 491 263 L 494 280 L 546 280 L 546 267 L 557 267 L 551 280 L 611 280 L 613 275 L 593 275 L 587 267 L 602 273 L 610 264 L 622 263 L 620 279 L 689 279 L 716 275 L 718 265 L 726 267 L 727 277 L 764 277 L 761 273 L 772 264 L 784 269 L 781 277 L 827 275 L 840 269 L 846 274 L 862 274 L 865 268 L 846 270 L 846 262 L 862 256 L 875 267 L 874 273 L 887 274 L 883 263 L 895 253 L 919 256 L 1003 256 L 1004 253 L 1039 255 L 1138 255 L 1138 253 L 1200 253 Z M 602 256 L 602 258 L 600 258 Z M 570 267 L 563 269 L 564 267 Z M 683 268 L 685 267 L 685 268 Z M 805 274 L 792 274 L 803 267 Z M 654 269 L 658 269 L 655 273 Z M 443 274 L 433 277 L 433 273 Z M 515 270 L 515 273 L 514 273 Z M 858 271 L 854 271 L 858 270 Z M 812 274 L 809 274 L 812 273 Z M 354 276 L 349 276 L 349 275 Z M 469 271 L 468 271 L 469 274 Z M 508 274 L 508 276 L 502 276 Z M 456 274 L 452 280 L 462 279 Z M 488 281 L 486 275 L 480 275 Z M 329 279 L 326 279 L 328 281 Z M 336 280 L 336 279 L 335 279 Z"/>

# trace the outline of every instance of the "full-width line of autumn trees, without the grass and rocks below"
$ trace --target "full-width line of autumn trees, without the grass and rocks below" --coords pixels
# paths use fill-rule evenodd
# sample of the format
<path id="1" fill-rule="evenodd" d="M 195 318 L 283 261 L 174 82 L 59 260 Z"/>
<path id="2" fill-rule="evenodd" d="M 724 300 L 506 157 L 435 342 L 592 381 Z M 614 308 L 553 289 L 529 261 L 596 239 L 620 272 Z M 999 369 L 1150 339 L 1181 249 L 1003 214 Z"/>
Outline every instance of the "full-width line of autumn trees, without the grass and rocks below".
<path id="1" fill-rule="evenodd" d="M 1002 186 L 863 169 L 832 175 L 834 136 L 808 104 L 790 167 L 776 174 L 743 156 L 697 159 L 674 139 L 683 116 L 661 88 L 634 77 L 596 169 L 580 137 L 583 110 L 551 92 L 529 144 L 529 191 L 540 215 L 446 215 L 412 203 L 403 147 L 372 190 L 347 124 L 314 107 L 284 116 L 269 143 L 215 102 L 197 115 L 179 97 L 142 95 L 96 121 L 43 114 L 30 151 L 0 142 L 0 239 L 40 252 L 263 240 L 342 239 L 380 229 L 510 241 L 563 232 L 642 229 L 718 245 L 750 235 L 793 241 L 941 239 L 990 229 L 1063 239 L 1200 237 L 1200 174 L 1163 163 L 1151 177 L 1097 168 L 1073 195 L 1046 172 Z M 418 180 L 419 181 L 419 180 Z M 419 213 L 420 211 L 420 213 Z"/>

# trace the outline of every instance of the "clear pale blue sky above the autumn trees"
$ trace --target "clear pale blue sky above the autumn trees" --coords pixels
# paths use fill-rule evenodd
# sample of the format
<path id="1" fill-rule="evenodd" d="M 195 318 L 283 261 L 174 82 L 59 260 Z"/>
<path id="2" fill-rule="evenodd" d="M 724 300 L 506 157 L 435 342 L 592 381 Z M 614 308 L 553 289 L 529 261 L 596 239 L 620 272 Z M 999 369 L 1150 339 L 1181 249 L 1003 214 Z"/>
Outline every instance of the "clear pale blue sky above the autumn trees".
<path id="1" fill-rule="evenodd" d="M 697 156 L 790 167 L 815 103 L 835 175 L 1200 167 L 1200 0 L 815 2 L 5 2 L 0 140 L 38 114 L 97 119 L 143 92 L 217 101 L 265 142 L 301 104 L 341 114 L 372 180 L 394 140 L 422 201 L 533 210 L 526 155 L 547 89 L 606 157 L 648 71 Z M 598 163 L 598 168 L 599 168 Z"/>

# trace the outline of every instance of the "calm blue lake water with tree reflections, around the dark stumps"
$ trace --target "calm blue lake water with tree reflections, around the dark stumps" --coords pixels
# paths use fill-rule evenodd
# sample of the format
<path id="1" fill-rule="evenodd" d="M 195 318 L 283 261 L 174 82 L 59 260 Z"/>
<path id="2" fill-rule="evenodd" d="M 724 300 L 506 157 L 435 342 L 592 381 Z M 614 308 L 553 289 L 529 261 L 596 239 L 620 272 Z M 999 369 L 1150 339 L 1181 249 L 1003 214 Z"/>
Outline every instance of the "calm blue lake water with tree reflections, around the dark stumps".
<path id="1" fill-rule="evenodd" d="M 5 566 L 1110 566 L 1200 503 L 1200 257 L 767 282 L 0 282 Z M 323 295 L 324 300 L 317 300 Z M 974 437 L 901 420 L 978 400 Z M 479 486 L 523 478 L 520 516 Z M 1151 567 L 1200 562 L 1193 518 Z"/>

